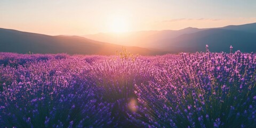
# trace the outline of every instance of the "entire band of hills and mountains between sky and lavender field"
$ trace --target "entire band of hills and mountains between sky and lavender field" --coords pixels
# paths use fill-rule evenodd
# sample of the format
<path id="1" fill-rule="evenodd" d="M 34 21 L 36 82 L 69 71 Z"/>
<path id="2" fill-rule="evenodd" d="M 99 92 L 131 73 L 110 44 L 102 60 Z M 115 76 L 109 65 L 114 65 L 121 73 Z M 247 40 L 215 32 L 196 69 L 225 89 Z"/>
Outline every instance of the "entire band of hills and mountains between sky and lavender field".
<path id="1" fill-rule="evenodd" d="M 107 42 L 107 43 L 105 43 Z M 100 33 L 79 36 L 49 36 L 0 28 L 0 52 L 115 54 L 126 46 L 133 54 L 154 55 L 205 51 L 256 52 L 256 23 L 221 28 Z"/>

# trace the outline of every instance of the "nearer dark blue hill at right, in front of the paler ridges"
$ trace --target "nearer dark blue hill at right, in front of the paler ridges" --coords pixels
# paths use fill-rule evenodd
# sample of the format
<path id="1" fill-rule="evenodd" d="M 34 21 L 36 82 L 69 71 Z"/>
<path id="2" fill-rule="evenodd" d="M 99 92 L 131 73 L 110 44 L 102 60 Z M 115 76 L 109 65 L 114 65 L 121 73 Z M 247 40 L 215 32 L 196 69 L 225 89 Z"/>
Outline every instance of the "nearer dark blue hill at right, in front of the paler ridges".
<path id="1" fill-rule="evenodd" d="M 211 52 L 229 52 L 229 47 L 234 47 L 233 51 L 242 52 L 256 51 L 256 34 L 228 30 L 228 29 L 208 29 L 198 31 L 193 34 L 184 34 L 171 39 L 159 41 L 162 45 L 159 48 L 172 52 L 200 52 L 205 51 L 205 45 L 209 45 Z"/>

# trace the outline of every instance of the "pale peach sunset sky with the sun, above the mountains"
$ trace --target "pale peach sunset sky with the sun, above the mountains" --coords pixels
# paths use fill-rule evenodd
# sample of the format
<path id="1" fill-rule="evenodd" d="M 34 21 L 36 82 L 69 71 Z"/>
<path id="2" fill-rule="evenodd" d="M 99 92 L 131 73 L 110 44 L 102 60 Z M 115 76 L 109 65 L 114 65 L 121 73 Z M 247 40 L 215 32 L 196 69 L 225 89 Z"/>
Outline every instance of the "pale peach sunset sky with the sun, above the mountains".
<path id="1" fill-rule="evenodd" d="M 213 28 L 256 22 L 249 0 L 1 0 L 0 28 L 47 35 Z"/>

